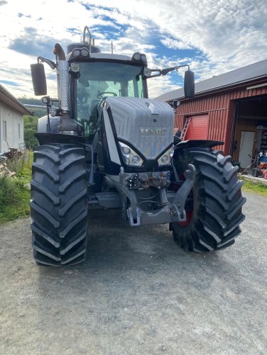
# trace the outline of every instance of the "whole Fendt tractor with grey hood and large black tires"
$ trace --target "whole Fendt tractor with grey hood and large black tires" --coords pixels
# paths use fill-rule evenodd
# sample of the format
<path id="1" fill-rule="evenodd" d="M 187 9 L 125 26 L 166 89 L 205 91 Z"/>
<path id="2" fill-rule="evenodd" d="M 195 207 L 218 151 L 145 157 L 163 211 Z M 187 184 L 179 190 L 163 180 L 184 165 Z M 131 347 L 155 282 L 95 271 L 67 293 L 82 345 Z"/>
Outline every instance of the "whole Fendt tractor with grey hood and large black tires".
<path id="1" fill-rule="evenodd" d="M 133 227 L 168 223 L 188 252 L 229 247 L 241 232 L 242 182 L 223 142 L 181 140 L 173 108 L 148 98 L 147 80 L 187 65 L 149 69 L 146 55 L 100 52 L 85 26 L 82 40 L 54 48 L 55 61 L 31 64 L 38 120 L 31 180 L 33 256 L 38 265 L 85 260 L 88 213 L 119 208 Z M 57 73 L 58 98 L 47 96 L 43 63 Z M 213 148 L 213 149 L 212 149 Z"/>

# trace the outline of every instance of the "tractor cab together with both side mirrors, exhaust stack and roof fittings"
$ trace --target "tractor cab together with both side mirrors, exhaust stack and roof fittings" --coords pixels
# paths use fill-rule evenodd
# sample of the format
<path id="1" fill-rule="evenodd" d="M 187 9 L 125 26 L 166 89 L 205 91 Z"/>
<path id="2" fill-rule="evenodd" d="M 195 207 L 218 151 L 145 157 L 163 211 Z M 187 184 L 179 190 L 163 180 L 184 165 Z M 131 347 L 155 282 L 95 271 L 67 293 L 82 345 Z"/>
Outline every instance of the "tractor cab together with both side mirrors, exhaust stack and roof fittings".
<path id="1" fill-rule="evenodd" d="M 57 70 L 58 109 L 50 107 L 51 100 L 46 96 L 48 118 L 39 120 L 39 133 L 82 135 L 92 140 L 99 128 L 99 103 L 109 96 L 148 98 L 147 79 L 166 75 L 180 67 L 187 67 L 185 97 L 194 96 L 194 73 L 187 64 L 149 69 L 143 53 L 134 52 L 131 57 L 115 55 L 113 51 L 101 53 L 95 47 L 87 26 L 82 42 L 67 46 L 67 55 L 58 43 L 55 44 L 54 54 L 56 62 L 38 57 L 38 63 L 31 64 L 36 96 L 47 94 L 43 62 Z"/>

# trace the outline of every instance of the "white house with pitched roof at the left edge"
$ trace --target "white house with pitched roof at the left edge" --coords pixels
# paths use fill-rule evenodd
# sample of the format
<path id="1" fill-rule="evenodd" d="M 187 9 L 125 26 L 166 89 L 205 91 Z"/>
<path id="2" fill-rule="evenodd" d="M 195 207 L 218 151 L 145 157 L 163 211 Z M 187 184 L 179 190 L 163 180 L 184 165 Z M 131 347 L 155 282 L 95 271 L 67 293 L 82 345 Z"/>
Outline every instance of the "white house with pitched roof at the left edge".
<path id="1" fill-rule="evenodd" d="M 23 115 L 32 113 L 0 84 L 0 152 L 24 141 Z"/>

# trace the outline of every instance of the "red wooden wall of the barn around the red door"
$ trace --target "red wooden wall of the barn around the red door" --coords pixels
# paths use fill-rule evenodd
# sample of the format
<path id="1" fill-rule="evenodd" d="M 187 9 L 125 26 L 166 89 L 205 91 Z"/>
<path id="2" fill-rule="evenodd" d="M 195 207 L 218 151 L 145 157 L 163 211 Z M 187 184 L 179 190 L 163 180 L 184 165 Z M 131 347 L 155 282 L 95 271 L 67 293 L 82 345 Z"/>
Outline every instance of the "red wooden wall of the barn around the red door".
<path id="1" fill-rule="evenodd" d="M 251 86 L 251 84 L 213 94 L 202 94 L 193 100 L 180 101 L 180 106 L 176 109 L 175 114 L 175 130 L 182 130 L 185 118 L 207 114 L 209 115 L 207 139 L 223 141 L 225 145 L 217 148 L 224 150 L 225 154 L 229 154 L 234 101 L 267 94 L 267 86 L 246 90 L 247 86 Z"/>

